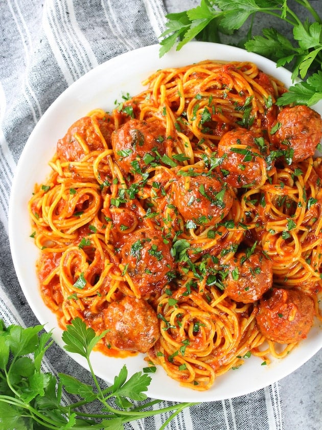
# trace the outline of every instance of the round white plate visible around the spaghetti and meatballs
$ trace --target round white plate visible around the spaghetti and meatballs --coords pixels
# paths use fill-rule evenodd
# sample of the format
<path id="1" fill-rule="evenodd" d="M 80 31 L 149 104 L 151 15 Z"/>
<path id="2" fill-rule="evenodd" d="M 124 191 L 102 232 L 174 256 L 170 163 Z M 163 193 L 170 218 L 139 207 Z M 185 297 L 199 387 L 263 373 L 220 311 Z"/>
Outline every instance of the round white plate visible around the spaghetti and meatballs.
<path id="1" fill-rule="evenodd" d="M 275 63 L 242 49 L 210 44 L 208 42 L 190 42 L 179 52 L 171 51 L 159 58 L 159 46 L 149 46 L 131 51 L 113 58 L 94 70 L 91 70 L 71 87 L 65 90 L 47 112 L 42 116 L 26 143 L 18 162 L 14 177 L 9 207 L 9 236 L 15 270 L 22 290 L 30 307 L 41 324 L 47 330 L 54 329 L 53 338 L 62 346 L 61 330 L 57 326 L 56 316 L 42 302 L 38 291 L 35 262 L 38 249 L 30 238 L 31 225 L 27 204 L 35 183 L 41 183 L 49 174 L 48 161 L 56 150 L 56 143 L 64 136 L 67 128 L 90 110 L 101 107 L 110 111 L 114 101 L 121 101 L 122 94 L 135 95 L 143 87 L 141 82 L 157 69 L 180 67 L 205 59 L 249 60 L 257 63 L 264 72 L 278 77 L 286 85 L 291 85 L 291 74 Z M 322 104 L 315 106 L 322 113 Z M 162 368 L 152 375 L 148 395 L 152 398 L 172 401 L 211 401 L 222 400 L 259 390 L 290 374 L 312 357 L 322 347 L 322 330 L 316 324 L 307 339 L 301 342 L 289 356 L 283 360 L 273 360 L 268 366 L 261 365 L 261 359 L 251 357 L 238 370 L 231 370 L 216 379 L 213 387 L 206 392 L 196 392 L 182 388 L 166 376 Z M 86 367 L 78 355 L 71 356 Z M 128 359 L 106 357 L 93 353 L 91 357 L 97 376 L 112 382 L 125 363 L 129 374 L 146 367 L 144 356 Z"/>

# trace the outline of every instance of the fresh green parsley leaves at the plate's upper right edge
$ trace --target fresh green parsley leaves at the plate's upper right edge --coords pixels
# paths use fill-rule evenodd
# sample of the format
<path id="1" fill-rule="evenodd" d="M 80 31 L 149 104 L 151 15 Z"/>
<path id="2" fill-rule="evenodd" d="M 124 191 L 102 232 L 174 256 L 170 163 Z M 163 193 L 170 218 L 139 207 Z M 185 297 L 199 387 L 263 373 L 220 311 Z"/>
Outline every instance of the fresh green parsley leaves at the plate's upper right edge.
<path id="1" fill-rule="evenodd" d="M 278 104 L 310 106 L 322 99 L 322 19 L 308 0 L 295 1 L 306 9 L 313 22 L 308 19 L 301 22 L 288 0 L 201 0 L 196 8 L 166 15 L 167 29 L 160 36 L 159 55 L 163 56 L 173 46 L 179 50 L 193 38 L 221 42 L 222 34 L 231 34 L 248 25 L 247 40 L 236 41 L 236 45 L 276 61 L 278 67 L 289 67 L 293 82 L 297 77 L 307 78 L 290 87 Z M 262 35 L 252 36 L 252 19 L 258 13 L 287 23 L 292 40 L 275 28 L 264 28 Z"/>

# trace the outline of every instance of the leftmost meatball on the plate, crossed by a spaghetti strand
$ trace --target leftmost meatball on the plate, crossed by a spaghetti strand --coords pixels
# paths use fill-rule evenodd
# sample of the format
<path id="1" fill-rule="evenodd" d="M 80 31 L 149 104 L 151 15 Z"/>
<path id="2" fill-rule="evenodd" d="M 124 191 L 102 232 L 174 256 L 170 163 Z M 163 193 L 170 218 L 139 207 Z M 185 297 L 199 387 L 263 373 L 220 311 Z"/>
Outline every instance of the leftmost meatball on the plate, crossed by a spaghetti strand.
<path id="1" fill-rule="evenodd" d="M 110 141 L 110 124 L 107 120 L 99 119 L 100 131 L 108 143 Z M 80 161 L 86 155 L 82 145 L 75 135 L 87 145 L 89 151 L 105 149 L 105 142 L 97 132 L 90 117 L 83 117 L 74 122 L 62 139 L 57 142 L 57 155 L 62 161 Z"/>

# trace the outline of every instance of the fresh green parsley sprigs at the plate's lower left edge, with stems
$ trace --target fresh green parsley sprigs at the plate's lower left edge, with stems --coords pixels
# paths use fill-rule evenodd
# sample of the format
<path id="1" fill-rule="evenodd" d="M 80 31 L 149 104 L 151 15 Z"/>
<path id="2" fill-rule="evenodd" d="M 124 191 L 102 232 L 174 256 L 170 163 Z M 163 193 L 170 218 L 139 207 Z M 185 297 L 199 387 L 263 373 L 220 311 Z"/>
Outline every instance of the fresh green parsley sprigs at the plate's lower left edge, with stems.
<path id="1" fill-rule="evenodd" d="M 171 412 L 160 428 L 163 430 L 185 407 L 195 404 L 177 403 L 157 411 L 149 410 L 159 402 L 144 402 L 151 377 L 137 372 L 128 378 L 125 366 L 111 386 L 101 388 L 89 356 L 102 336 L 104 333 L 96 336 L 80 318 L 75 318 L 63 332 L 64 348 L 80 354 L 88 363 L 94 382 L 89 385 L 70 375 L 60 373 L 57 378 L 42 370 L 44 354 L 53 343 L 51 333 L 44 332 L 43 326 L 6 327 L 0 320 L 0 428 L 123 430 L 125 422 Z M 63 392 L 80 400 L 65 405 Z M 92 402 L 101 405 L 96 413 L 89 413 L 84 407 Z M 113 407 L 113 402 L 117 407 Z"/>

